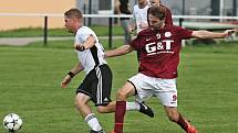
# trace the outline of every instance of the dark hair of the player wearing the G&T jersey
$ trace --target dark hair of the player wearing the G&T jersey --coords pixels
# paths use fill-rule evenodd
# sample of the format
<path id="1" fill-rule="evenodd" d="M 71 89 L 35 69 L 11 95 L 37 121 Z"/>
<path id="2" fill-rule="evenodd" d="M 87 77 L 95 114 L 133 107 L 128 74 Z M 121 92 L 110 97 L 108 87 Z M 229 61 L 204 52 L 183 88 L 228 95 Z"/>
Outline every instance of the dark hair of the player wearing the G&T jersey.
<path id="1" fill-rule="evenodd" d="M 157 5 L 153 5 L 151 8 L 148 8 L 148 14 L 152 14 L 156 18 L 158 18 L 159 20 L 165 19 L 166 15 L 166 9 L 162 5 L 157 7 Z"/>

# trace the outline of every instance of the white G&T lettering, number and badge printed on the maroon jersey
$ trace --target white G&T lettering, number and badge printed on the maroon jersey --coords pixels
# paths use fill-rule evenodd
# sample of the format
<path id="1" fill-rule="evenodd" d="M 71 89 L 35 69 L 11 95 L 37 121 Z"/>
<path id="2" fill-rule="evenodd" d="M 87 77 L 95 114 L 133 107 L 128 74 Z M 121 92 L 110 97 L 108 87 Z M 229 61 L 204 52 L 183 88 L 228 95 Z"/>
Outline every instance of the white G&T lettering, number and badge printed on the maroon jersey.
<path id="1" fill-rule="evenodd" d="M 157 38 L 161 38 L 161 34 L 156 34 Z M 165 37 L 170 37 L 170 32 L 165 32 Z M 148 40 L 148 38 L 147 38 Z M 147 41 L 146 40 L 146 41 Z M 145 49 L 147 52 L 147 55 L 155 55 L 155 54 L 162 54 L 162 53 L 170 53 L 174 54 L 172 51 L 172 44 L 174 43 L 173 40 L 163 40 L 161 42 L 152 42 L 145 45 Z"/>

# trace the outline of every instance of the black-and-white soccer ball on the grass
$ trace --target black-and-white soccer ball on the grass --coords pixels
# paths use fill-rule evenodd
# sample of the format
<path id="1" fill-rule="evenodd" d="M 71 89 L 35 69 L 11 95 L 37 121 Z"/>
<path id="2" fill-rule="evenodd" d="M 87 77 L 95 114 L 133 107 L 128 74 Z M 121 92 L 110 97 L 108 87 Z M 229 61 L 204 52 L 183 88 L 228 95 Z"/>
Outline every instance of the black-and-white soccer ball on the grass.
<path id="1" fill-rule="evenodd" d="M 15 132 L 20 130 L 21 125 L 22 125 L 22 119 L 15 113 L 10 113 L 6 115 L 3 119 L 3 126 L 9 132 Z"/>

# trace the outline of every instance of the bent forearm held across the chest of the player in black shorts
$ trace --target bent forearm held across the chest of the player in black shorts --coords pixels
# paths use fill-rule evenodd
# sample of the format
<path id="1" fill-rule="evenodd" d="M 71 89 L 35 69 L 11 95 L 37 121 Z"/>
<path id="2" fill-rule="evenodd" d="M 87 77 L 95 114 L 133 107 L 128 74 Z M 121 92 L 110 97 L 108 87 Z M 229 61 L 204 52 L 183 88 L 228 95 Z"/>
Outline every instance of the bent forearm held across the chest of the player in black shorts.
<path id="1" fill-rule="evenodd" d="M 84 49 L 91 48 L 96 43 L 96 38 L 90 35 L 83 44 L 74 44 L 74 48 L 83 52 Z"/>

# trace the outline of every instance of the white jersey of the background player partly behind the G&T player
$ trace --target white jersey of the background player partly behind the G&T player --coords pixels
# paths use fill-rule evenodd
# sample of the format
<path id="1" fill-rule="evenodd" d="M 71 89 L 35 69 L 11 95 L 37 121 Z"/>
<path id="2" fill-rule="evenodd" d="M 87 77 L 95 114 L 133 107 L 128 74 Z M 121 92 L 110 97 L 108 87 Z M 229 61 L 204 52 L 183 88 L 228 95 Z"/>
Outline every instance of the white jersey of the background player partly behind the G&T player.
<path id="1" fill-rule="evenodd" d="M 139 9 L 138 4 L 134 5 L 133 9 L 133 19 L 136 22 L 137 33 L 139 33 L 145 27 L 142 27 L 142 25 L 148 25 L 147 22 L 147 10 L 149 5 L 147 4 L 145 8 Z"/>

